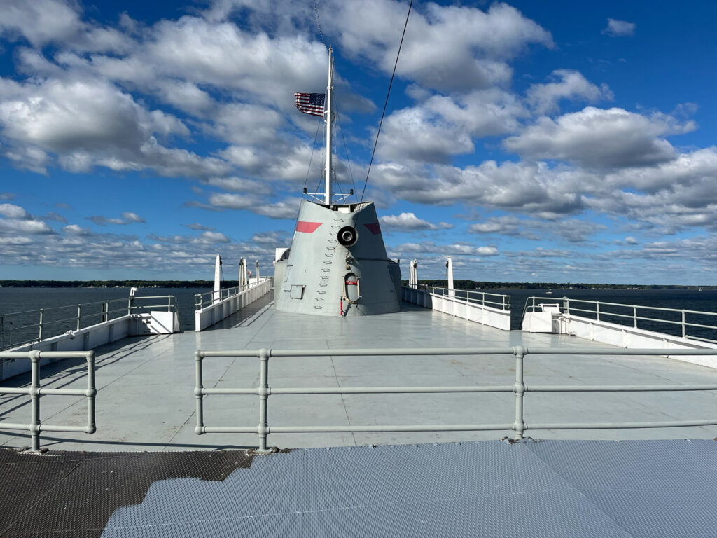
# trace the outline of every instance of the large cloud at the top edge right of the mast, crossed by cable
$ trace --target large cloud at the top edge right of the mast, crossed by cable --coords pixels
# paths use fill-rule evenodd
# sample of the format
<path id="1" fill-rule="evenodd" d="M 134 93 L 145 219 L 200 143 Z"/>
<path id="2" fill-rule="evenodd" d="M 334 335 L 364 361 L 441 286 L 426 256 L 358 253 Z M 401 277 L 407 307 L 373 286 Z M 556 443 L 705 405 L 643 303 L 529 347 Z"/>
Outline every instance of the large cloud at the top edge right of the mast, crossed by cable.
<path id="1" fill-rule="evenodd" d="M 407 7 L 399 1 L 332 3 L 341 46 L 391 72 L 397 28 Z M 552 47 L 551 34 L 507 4 L 488 11 L 427 4 L 407 27 L 397 74 L 438 90 L 467 90 L 505 84 L 513 74 L 508 60 L 531 44 Z"/>

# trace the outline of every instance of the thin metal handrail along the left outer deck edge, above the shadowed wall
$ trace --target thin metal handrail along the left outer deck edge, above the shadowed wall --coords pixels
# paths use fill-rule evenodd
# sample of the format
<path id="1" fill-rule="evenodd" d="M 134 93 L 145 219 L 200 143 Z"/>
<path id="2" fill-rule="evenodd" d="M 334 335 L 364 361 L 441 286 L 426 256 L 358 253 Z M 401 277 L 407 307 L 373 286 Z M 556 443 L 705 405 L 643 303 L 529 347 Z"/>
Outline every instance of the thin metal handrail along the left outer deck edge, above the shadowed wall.
<path id="1" fill-rule="evenodd" d="M 166 302 L 163 304 L 149 305 L 136 304 L 138 301 L 146 301 L 148 299 L 163 299 Z M 122 306 L 120 306 L 120 308 L 114 308 L 115 303 L 121 303 Z M 112 305 L 113 308 L 110 308 L 110 305 Z M 87 307 L 92 306 L 100 306 L 100 311 L 93 311 L 91 313 L 87 313 Z M 45 314 L 49 311 L 61 311 L 62 309 L 67 310 L 70 308 L 77 308 L 77 311 L 74 315 L 67 318 L 48 320 L 45 316 Z M 51 306 L 49 308 L 39 308 L 37 310 L 27 310 L 22 312 L 11 312 L 2 314 L 0 316 L 0 349 L 7 349 L 14 346 L 20 346 L 22 344 L 29 344 L 31 342 L 40 342 L 45 339 L 52 338 L 53 336 L 59 336 L 59 334 L 62 334 L 61 331 L 55 332 L 54 334 L 47 334 L 48 331 L 46 329 L 48 326 L 57 326 L 60 324 L 65 324 L 65 327 L 67 327 L 68 322 L 72 322 L 73 329 L 70 330 L 79 331 L 83 328 L 82 320 L 85 320 L 86 322 L 88 318 L 100 318 L 100 323 L 104 323 L 105 321 L 110 321 L 110 319 L 116 319 L 122 316 L 130 316 L 137 311 L 147 311 L 148 308 L 166 308 L 166 311 L 168 312 L 179 313 L 179 304 L 177 303 L 176 296 L 135 296 L 128 298 L 107 299 L 105 301 L 93 301 L 91 303 L 80 303 L 77 305 Z M 82 312 L 83 309 L 85 310 L 84 313 Z M 7 321 L 9 327 L 6 328 L 6 320 L 8 320 L 8 318 L 18 316 L 24 316 L 27 318 L 28 316 L 32 315 L 38 316 L 37 323 L 15 326 L 13 321 Z M 179 319 L 179 316 L 177 316 L 177 318 Z M 84 327 L 87 326 L 89 325 L 85 323 Z M 37 328 L 37 336 L 26 336 L 25 339 L 22 339 L 20 341 L 17 341 L 16 339 L 15 341 L 13 341 L 13 335 L 18 334 L 17 331 L 34 328 Z M 6 334 L 8 336 L 7 339 Z"/>

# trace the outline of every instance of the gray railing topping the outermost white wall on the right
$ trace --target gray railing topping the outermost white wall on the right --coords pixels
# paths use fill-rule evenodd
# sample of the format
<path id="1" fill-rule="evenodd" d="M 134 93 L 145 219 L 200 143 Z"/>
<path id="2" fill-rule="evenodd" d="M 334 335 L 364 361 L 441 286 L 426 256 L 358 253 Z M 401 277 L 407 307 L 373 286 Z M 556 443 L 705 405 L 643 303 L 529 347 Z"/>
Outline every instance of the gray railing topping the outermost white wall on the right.
<path id="1" fill-rule="evenodd" d="M 609 321 L 610 323 L 632 326 L 634 329 L 655 330 L 652 326 L 657 325 L 661 331 L 667 331 L 668 328 L 675 330 L 675 336 L 690 338 L 693 340 L 717 343 L 717 313 L 702 312 L 697 310 L 685 310 L 680 308 L 663 308 L 660 306 L 639 306 L 622 303 L 605 303 L 603 301 L 584 301 L 582 299 L 569 299 L 557 297 L 528 297 L 526 306 L 523 308 L 523 318 L 526 312 L 535 312 L 539 308 L 536 301 L 546 301 L 552 304 L 558 304 L 561 312 L 565 314 L 575 314 L 586 318 L 592 318 L 596 321 Z M 656 313 L 662 313 L 669 318 L 655 318 Z M 695 320 L 709 320 L 709 324 L 697 323 Z M 642 323 L 640 323 L 642 322 Z M 638 327 L 638 325 L 641 325 Z M 690 334 L 690 329 L 704 329 L 706 333 L 712 331 L 711 338 Z M 680 334 L 678 334 L 678 332 Z"/>

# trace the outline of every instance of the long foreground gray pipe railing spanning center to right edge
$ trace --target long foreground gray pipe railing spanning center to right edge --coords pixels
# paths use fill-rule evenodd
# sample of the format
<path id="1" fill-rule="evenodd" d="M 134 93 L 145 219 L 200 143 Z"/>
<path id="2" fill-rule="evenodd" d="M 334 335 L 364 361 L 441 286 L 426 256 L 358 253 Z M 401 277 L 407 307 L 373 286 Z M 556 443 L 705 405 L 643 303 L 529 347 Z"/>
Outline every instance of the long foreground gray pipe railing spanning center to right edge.
<path id="1" fill-rule="evenodd" d="M 670 355 L 717 355 L 717 349 L 670 349 Z M 270 433 L 357 433 L 357 432 L 420 432 L 420 431 L 485 431 L 513 430 L 513 438 L 523 438 L 526 430 L 586 430 L 603 428 L 678 428 L 683 426 L 717 425 L 717 416 L 706 420 L 679 420 L 631 423 L 526 423 L 523 420 L 523 397 L 526 392 L 660 392 L 683 390 L 717 390 L 717 384 L 625 384 L 625 385 L 528 385 L 523 379 L 523 362 L 526 355 L 665 355 L 665 349 L 594 349 L 584 348 L 536 348 L 523 346 L 488 349 L 312 349 L 253 351 L 204 351 L 197 350 L 196 361 L 196 428 L 203 433 L 257 433 L 258 452 L 268 452 L 267 436 Z M 462 387 L 297 387 L 273 388 L 269 386 L 270 357 L 371 357 L 371 356 L 419 356 L 419 355 L 513 355 L 515 358 L 515 383 L 512 385 L 476 385 Z M 258 357 L 260 359 L 259 387 L 255 388 L 205 388 L 202 361 L 211 357 Z M 326 395 L 326 394 L 416 394 L 450 392 L 513 392 L 515 420 L 503 424 L 449 424 L 449 425 L 346 425 L 346 426 L 271 426 L 268 423 L 268 399 L 270 395 Z M 259 425 L 257 426 L 206 426 L 204 425 L 204 396 L 206 395 L 258 395 Z"/>

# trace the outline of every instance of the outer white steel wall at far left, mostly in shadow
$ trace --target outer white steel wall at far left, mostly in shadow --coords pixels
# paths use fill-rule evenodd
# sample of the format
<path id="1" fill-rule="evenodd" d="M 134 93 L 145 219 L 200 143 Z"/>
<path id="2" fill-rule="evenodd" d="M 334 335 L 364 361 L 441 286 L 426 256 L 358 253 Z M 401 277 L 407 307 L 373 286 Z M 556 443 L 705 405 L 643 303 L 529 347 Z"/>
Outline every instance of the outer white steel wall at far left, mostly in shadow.
<path id="1" fill-rule="evenodd" d="M 171 334 L 179 332 L 179 318 L 176 312 L 152 311 L 148 313 L 121 316 L 119 318 L 90 325 L 79 331 L 52 336 L 41 342 L 31 342 L 12 348 L 12 351 L 87 351 L 110 344 L 127 336 L 145 334 Z M 57 359 L 41 359 L 40 365 Z M 0 379 L 7 379 L 23 372 L 29 372 L 28 361 L 3 360 L 0 362 Z"/>

